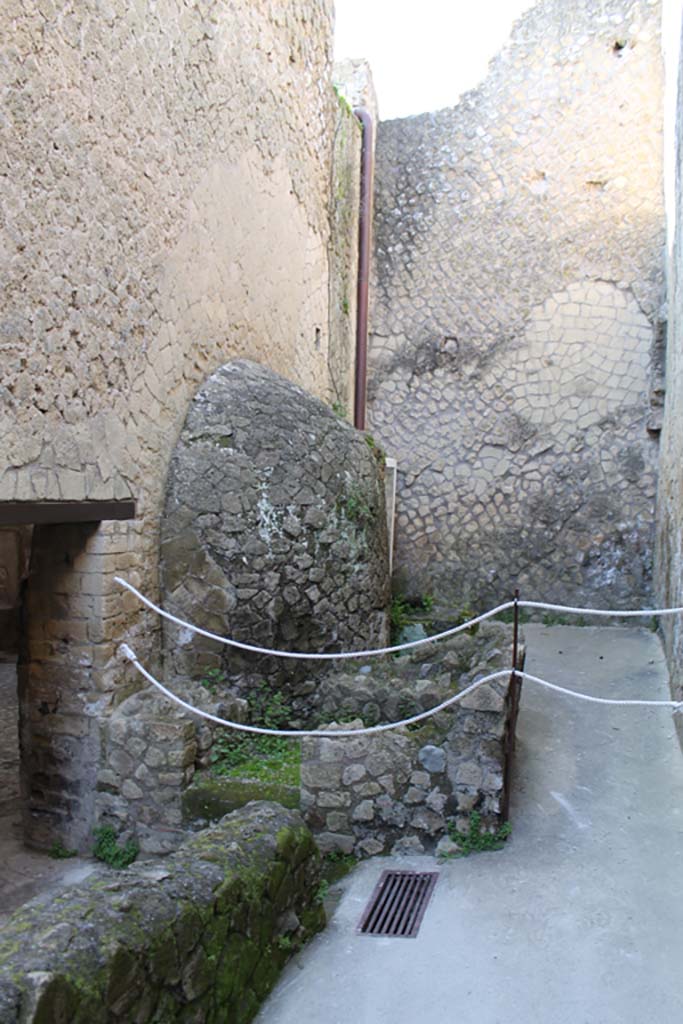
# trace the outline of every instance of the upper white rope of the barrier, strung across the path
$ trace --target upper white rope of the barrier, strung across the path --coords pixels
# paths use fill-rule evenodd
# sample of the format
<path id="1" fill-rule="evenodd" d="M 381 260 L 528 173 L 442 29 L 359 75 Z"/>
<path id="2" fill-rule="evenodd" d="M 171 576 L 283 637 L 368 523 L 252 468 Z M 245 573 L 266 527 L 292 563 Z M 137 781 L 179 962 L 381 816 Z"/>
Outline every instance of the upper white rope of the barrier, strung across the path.
<path id="1" fill-rule="evenodd" d="M 195 626 L 193 623 L 185 622 L 184 618 L 178 618 L 177 615 L 172 615 L 170 611 L 165 611 L 163 608 L 160 608 L 158 604 L 155 604 L 154 601 L 151 601 L 148 597 L 145 597 L 144 594 L 141 594 L 139 590 L 136 590 L 132 584 L 123 580 L 121 577 L 114 577 L 114 582 L 118 583 L 121 587 L 125 587 L 125 589 L 131 594 L 134 594 L 135 597 L 142 602 L 142 604 L 145 604 L 153 611 L 156 611 L 158 615 L 168 620 L 170 623 L 174 623 L 176 626 L 190 630 L 199 636 L 208 637 L 209 640 L 217 640 L 218 643 L 227 644 L 229 647 L 237 647 L 240 650 L 247 650 L 252 654 L 268 654 L 272 657 L 293 657 L 299 660 L 315 662 L 337 662 L 345 658 L 376 657 L 380 654 L 397 654 L 402 650 L 412 650 L 414 647 L 421 647 L 427 643 L 434 643 L 437 640 L 445 640 L 446 637 L 456 636 L 458 633 L 462 633 L 465 630 L 471 629 L 473 626 L 477 626 L 479 623 L 485 622 L 486 618 L 492 618 L 494 615 L 498 615 L 502 611 L 514 608 L 515 604 L 518 608 L 537 608 L 547 611 L 562 611 L 570 615 L 605 615 L 610 618 L 635 616 L 652 618 L 656 615 L 676 615 L 683 612 L 683 607 L 642 608 L 623 611 L 618 608 L 574 608 L 567 604 L 546 604 L 543 601 L 506 601 L 504 604 L 499 604 L 496 608 L 492 608 L 489 611 L 484 611 L 481 615 L 470 618 L 466 623 L 461 623 L 459 626 L 454 626 L 451 629 L 443 630 L 442 633 L 435 633 L 433 636 L 423 637 L 420 640 L 411 640 L 408 643 L 394 644 L 392 647 L 375 647 L 371 650 L 312 653 L 311 651 L 301 650 L 273 650 L 269 647 L 259 647 L 256 644 L 243 643 L 241 640 L 233 640 L 231 637 L 223 637 L 218 633 L 211 633 L 210 630 L 203 630 L 201 627 Z"/>

